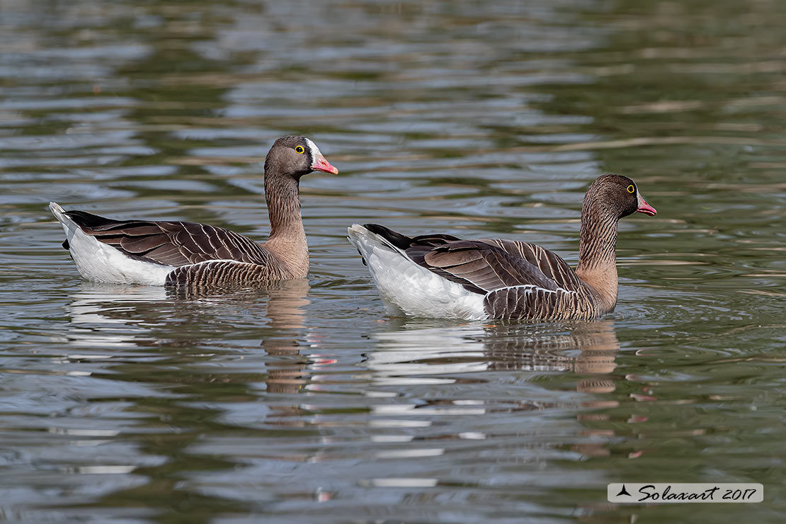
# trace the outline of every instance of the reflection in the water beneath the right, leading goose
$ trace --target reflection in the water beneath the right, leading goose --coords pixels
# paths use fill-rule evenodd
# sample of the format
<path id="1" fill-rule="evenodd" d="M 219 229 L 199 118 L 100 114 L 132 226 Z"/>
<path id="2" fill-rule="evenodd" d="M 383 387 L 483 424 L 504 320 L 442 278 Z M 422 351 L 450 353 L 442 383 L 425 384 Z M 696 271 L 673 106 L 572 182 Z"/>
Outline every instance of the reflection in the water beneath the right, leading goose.
<path id="1" fill-rule="evenodd" d="M 619 406 L 617 396 L 612 395 L 616 389 L 615 358 L 619 353 L 613 321 L 469 324 L 460 328 L 455 324 L 428 328 L 417 328 L 417 325 L 408 321 L 395 331 L 375 335 L 379 344 L 365 362 L 373 372 L 373 383 L 410 388 L 456 384 L 456 387 L 467 388 L 459 384 L 504 380 L 504 375 L 490 376 L 488 372 L 530 372 L 531 376 L 523 381 L 526 394 L 516 398 L 512 408 L 511 398 L 486 398 L 483 388 L 479 388 L 477 397 L 472 400 L 466 397 L 461 401 L 428 399 L 423 401 L 424 405 L 416 403 L 408 409 L 399 409 L 400 414 L 414 414 L 417 409 L 440 405 L 442 412 L 454 415 L 488 416 L 499 409 L 501 401 L 510 411 L 545 411 L 568 406 L 575 409 L 575 420 L 581 424 L 575 428 L 575 434 L 582 442 L 576 442 L 571 449 L 585 456 L 610 453 L 605 441 L 613 437 L 614 432 L 596 426 L 610 418 L 603 409 Z M 575 394 L 567 395 L 565 401 L 561 388 L 543 387 L 537 378 L 544 373 L 574 375 Z M 388 409 L 384 414 L 392 412 Z M 592 442 L 596 438 L 604 442 Z M 637 455 L 632 453 L 630 456 Z"/>

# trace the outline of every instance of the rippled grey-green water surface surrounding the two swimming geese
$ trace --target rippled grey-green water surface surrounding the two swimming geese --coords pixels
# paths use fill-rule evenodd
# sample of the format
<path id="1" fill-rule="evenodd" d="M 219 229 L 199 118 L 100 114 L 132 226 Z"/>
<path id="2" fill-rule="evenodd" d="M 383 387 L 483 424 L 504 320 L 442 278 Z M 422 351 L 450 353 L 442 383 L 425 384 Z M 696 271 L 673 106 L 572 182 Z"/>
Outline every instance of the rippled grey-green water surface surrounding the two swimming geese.
<path id="1" fill-rule="evenodd" d="M 781 522 L 786 5 L 0 2 L 0 519 Z M 312 137 L 309 279 L 90 284 L 57 200 L 266 234 Z M 575 262 L 634 178 L 620 302 L 582 324 L 386 317 L 352 222 Z M 615 506 L 608 482 L 761 482 Z M 686 509 L 687 508 L 687 509 Z M 754 516 L 755 515 L 755 516 Z"/>

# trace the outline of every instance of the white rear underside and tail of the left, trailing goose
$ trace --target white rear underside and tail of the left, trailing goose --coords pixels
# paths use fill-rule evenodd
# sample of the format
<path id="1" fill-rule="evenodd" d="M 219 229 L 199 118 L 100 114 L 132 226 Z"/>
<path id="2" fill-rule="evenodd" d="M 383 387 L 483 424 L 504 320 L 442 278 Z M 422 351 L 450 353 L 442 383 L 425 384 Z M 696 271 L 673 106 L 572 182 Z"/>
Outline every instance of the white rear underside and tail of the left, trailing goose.
<path id="1" fill-rule="evenodd" d="M 174 266 L 162 266 L 129 258 L 114 247 L 83 233 L 79 225 L 68 218 L 57 203 L 50 202 L 50 210 L 54 218 L 57 218 L 57 222 L 63 226 L 76 269 L 79 269 L 79 273 L 82 273 L 87 280 L 163 286 L 167 274 L 174 269 Z"/>

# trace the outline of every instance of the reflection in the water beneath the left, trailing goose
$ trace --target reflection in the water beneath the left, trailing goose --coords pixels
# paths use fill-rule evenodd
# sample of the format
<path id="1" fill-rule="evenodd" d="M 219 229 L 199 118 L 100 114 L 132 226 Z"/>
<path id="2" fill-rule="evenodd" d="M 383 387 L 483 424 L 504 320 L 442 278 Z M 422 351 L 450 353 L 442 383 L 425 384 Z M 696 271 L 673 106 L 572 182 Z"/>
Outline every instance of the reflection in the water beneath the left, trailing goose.
<path id="1" fill-rule="evenodd" d="M 182 378 L 175 373 L 175 381 L 194 380 L 186 378 L 185 365 L 203 364 L 209 366 L 213 381 L 264 382 L 271 392 L 295 393 L 305 384 L 301 377 L 308 363 L 304 357 L 297 358 L 299 350 L 303 345 L 314 346 L 314 334 L 303 327 L 309 289 L 306 279 L 235 290 L 85 282 L 72 293 L 67 306 L 71 322 L 66 337 L 69 345 L 89 349 L 86 357 L 106 364 L 128 357 L 123 349 L 134 350 L 135 357 L 142 350 L 145 360 L 164 359 L 177 365 Z M 252 332 L 250 341 L 237 339 L 237 333 L 245 330 Z M 209 354 L 199 349 L 206 347 Z M 210 355 L 215 359 L 200 358 Z M 215 373 L 227 358 L 237 372 Z M 113 371 L 121 374 L 116 379 L 123 379 L 123 365 L 118 369 L 117 364 Z"/>

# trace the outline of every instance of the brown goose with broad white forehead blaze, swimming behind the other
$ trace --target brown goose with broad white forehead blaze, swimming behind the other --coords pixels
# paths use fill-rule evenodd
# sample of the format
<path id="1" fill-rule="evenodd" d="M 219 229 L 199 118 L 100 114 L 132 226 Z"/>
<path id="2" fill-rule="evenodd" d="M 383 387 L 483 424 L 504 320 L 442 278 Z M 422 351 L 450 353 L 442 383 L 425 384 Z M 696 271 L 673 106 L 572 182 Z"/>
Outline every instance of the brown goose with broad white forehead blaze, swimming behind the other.
<path id="1" fill-rule="evenodd" d="M 244 284 L 303 278 L 308 246 L 300 216 L 299 180 L 312 171 L 339 170 L 305 137 L 281 137 L 265 159 L 270 236 L 245 236 L 194 222 L 113 220 L 85 211 L 50 210 L 68 249 L 88 280 L 121 284 Z"/>

